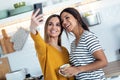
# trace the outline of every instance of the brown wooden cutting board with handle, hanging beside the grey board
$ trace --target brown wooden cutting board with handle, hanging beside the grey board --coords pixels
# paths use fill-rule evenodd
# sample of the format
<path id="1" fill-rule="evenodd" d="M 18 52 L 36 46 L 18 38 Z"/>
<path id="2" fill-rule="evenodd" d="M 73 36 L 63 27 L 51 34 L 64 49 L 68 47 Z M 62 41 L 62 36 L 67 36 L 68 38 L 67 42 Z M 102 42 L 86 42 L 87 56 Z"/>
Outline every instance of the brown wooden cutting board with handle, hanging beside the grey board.
<path id="1" fill-rule="evenodd" d="M 5 29 L 1 30 L 3 38 L 0 39 L 2 51 L 4 54 L 14 52 L 13 43 L 10 42 L 10 37 L 7 35 Z"/>

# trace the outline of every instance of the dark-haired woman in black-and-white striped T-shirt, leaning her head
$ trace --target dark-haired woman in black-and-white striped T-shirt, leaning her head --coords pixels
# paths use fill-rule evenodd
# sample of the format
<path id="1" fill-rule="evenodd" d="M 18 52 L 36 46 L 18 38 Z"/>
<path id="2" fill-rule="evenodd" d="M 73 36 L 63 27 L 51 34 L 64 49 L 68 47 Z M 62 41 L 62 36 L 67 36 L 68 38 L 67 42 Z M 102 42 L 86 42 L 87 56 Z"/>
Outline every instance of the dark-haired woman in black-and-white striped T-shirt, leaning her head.
<path id="1" fill-rule="evenodd" d="M 69 54 L 71 67 L 61 70 L 62 73 L 75 76 L 76 80 L 105 80 L 101 68 L 108 62 L 98 38 L 89 31 L 75 8 L 65 8 L 60 17 L 66 32 L 75 35 Z"/>

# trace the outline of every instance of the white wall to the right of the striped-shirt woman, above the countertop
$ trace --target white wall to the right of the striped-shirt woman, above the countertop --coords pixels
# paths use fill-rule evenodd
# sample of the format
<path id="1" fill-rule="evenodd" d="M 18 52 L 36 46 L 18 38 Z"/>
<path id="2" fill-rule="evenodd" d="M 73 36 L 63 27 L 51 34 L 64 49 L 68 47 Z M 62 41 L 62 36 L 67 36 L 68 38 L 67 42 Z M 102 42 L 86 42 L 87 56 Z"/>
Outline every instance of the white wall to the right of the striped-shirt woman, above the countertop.
<path id="1" fill-rule="evenodd" d="M 120 1 L 113 2 L 112 0 L 103 0 L 100 8 L 95 9 L 100 13 L 101 24 L 90 27 L 90 30 L 95 32 L 99 37 L 105 54 L 109 62 L 120 59 L 120 54 L 117 52 L 120 49 L 120 37 L 116 36 L 115 30 L 120 27 Z M 120 34 L 120 30 L 117 35 Z"/>

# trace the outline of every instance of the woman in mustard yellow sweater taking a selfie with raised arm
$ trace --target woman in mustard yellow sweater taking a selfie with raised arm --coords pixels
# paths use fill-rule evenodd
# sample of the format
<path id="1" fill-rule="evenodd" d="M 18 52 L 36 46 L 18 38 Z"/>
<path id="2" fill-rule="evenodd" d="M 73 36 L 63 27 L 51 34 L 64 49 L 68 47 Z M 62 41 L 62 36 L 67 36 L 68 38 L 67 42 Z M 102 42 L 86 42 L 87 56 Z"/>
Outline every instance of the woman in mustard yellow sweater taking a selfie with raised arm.
<path id="1" fill-rule="evenodd" d="M 35 44 L 44 80 L 74 80 L 73 77 L 66 78 L 58 73 L 59 67 L 69 63 L 69 54 L 65 47 L 61 45 L 61 19 L 59 15 L 48 17 L 44 28 L 44 38 L 41 38 L 36 28 L 41 24 L 42 15 L 37 15 L 39 9 L 33 13 L 30 24 L 31 37 Z"/>

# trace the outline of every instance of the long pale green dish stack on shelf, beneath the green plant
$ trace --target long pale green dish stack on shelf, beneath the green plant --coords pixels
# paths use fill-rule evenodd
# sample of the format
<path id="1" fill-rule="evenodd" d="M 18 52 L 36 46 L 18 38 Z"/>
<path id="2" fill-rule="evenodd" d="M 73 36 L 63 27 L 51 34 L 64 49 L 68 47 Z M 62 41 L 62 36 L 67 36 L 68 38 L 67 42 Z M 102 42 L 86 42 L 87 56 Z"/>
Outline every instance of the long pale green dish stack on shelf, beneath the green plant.
<path id="1" fill-rule="evenodd" d="M 22 6 L 22 7 L 19 7 L 19 8 L 9 10 L 9 15 L 14 16 L 14 15 L 24 13 L 24 12 L 28 12 L 28 11 L 31 11 L 31 10 L 33 10 L 33 6 L 31 6 L 31 5 Z"/>

